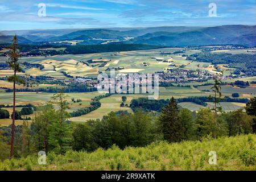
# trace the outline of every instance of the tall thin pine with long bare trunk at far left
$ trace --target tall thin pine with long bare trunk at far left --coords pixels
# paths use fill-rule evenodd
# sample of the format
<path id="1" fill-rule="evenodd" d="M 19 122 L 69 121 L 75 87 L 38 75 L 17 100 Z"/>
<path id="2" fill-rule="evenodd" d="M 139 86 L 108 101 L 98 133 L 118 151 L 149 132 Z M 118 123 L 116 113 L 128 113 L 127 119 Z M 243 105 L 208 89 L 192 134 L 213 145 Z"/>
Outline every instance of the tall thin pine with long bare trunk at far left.
<path id="1" fill-rule="evenodd" d="M 10 52 L 9 52 L 9 60 L 7 61 L 7 64 L 9 64 L 9 67 L 13 69 L 14 75 L 8 77 L 8 81 L 13 82 L 13 124 L 11 127 L 11 151 L 10 151 L 10 158 L 13 157 L 13 146 L 14 146 L 14 128 L 15 128 L 15 84 L 20 83 L 24 84 L 24 80 L 22 78 L 19 78 L 16 73 L 21 72 L 22 69 L 20 68 L 20 65 L 18 63 L 20 57 L 19 53 L 19 47 L 18 47 L 18 40 L 17 36 L 15 35 L 13 38 L 13 44 L 10 46 Z"/>

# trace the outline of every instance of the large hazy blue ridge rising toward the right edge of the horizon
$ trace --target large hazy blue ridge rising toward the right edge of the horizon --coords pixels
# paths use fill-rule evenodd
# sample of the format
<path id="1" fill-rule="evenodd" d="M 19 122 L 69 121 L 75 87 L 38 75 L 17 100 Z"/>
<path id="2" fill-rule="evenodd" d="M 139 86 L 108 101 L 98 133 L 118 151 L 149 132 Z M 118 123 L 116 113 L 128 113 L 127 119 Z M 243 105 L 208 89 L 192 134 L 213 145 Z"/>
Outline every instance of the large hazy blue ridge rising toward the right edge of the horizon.
<path id="1" fill-rule="evenodd" d="M 256 46 L 256 26 L 218 26 L 199 30 L 154 32 L 138 36 L 129 43 L 161 46 L 206 46 L 212 44 L 244 44 Z"/>

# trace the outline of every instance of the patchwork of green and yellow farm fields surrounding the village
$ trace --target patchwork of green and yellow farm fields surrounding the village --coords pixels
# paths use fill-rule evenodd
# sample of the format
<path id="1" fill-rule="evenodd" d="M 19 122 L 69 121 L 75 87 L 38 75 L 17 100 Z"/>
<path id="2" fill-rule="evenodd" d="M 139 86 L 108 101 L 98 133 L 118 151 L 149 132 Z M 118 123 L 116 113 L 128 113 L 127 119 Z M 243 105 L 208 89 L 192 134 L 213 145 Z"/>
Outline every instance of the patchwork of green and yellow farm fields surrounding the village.
<path id="1" fill-rule="evenodd" d="M 110 69 L 115 69 L 117 73 L 168 73 L 171 69 L 184 69 L 187 71 L 203 70 L 211 74 L 220 73 L 216 70 L 216 66 L 211 63 L 187 60 L 187 56 L 194 53 L 201 52 L 195 49 L 185 49 L 184 53 L 174 53 L 184 48 L 160 48 L 149 49 L 143 51 L 122 51 L 122 52 L 104 52 L 104 53 L 88 53 L 83 55 L 55 55 L 55 56 L 35 56 L 22 57 L 21 63 L 30 63 L 31 65 L 22 65 L 23 72 L 20 76 L 36 77 L 46 76 L 53 80 L 62 80 L 66 82 L 66 86 L 59 82 L 51 83 L 34 83 L 30 85 L 32 89 L 49 89 L 49 88 L 65 88 L 69 80 L 77 77 L 97 78 L 99 73 L 110 73 Z M 230 53 L 241 53 L 241 50 L 229 50 Z M 246 51 L 243 51 L 246 52 Z M 0 63 L 5 63 L 6 59 L 1 57 Z M 42 65 L 43 67 L 35 67 L 35 65 Z M 229 68 L 227 64 L 217 64 L 217 67 L 224 71 L 224 75 L 230 75 L 234 68 Z M 11 89 L 12 84 L 7 82 L 4 78 L 13 74 L 9 69 L 0 70 L 0 104 L 12 105 L 12 93 L 5 92 L 5 89 Z M 238 78 L 229 78 L 225 82 L 234 82 Z M 242 81 L 255 81 L 256 77 L 240 77 Z M 50 80 L 51 81 L 51 80 Z M 195 86 L 213 83 L 213 80 L 207 81 L 189 81 L 173 83 L 173 86 L 161 86 L 159 88 L 158 99 L 187 98 L 187 97 L 208 97 L 211 92 L 211 86 Z M 176 86 L 175 86 L 176 85 Z M 189 87 L 188 87 L 189 86 Z M 17 85 L 18 89 L 26 89 L 25 85 Z M 239 88 L 236 86 L 224 85 L 222 86 L 222 96 L 232 97 L 232 93 L 239 93 L 240 98 L 255 97 L 256 87 L 254 84 L 246 86 L 246 88 Z M 209 92 L 208 92 L 209 90 Z M 92 98 L 99 96 L 102 93 L 98 92 L 84 92 L 84 93 L 67 93 L 68 102 L 71 107 L 68 111 L 76 111 L 82 107 L 89 107 Z M 16 102 L 18 105 L 32 104 L 39 106 L 45 104 L 53 96 L 53 93 L 47 92 L 18 92 L 16 94 Z M 127 101 L 124 104 L 127 106 L 121 107 L 121 97 L 126 96 Z M 88 119 L 101 119 L 110 111 L 125 110 L 131 112 L 129 107 L 133 98 L 147 97 L 148 94 L 113 94 L 110 97 L 102 98 L 100 100 L 101 107 L 90 112 L 89 114 L 81 115 L 79 117 L 70 118 L 74 122 L 86 122 Z M 79 99 L 81 102 L 73 103 L 71 99 Z M 181 102 L 179 105 L 189 110 L 197 111 L 205 106 L 195 104 L 193 102 Z M 222 108 L 225 111 L 232 111 L 241 109 L 245 104 L 237 102 L 222 102 Z M 207 102 L 207 107 L 212 107 L 211 102 Z M 6 107 L 4 107 L 6 109 Z M 19 107 L 18 110 L 22 109 Z M 10 109 L 8 109 L 10 110 Z M 33 116 L 31 115 L 31 119 Z M 17 123 L 22 121 L 17 121 Z M 29 121 L 30 122 L 30 121 Z M 0 119 L 0 125 L 9 125 L 11 119 Z"/>

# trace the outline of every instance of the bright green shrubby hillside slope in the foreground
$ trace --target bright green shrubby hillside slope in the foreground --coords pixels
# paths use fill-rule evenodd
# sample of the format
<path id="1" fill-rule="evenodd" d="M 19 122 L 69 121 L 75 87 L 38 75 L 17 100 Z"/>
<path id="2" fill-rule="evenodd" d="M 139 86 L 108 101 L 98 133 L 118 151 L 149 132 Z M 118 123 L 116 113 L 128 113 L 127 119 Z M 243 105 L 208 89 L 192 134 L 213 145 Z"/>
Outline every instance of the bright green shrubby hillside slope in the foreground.
<path id="1" fill-rule="evenodd" d="M 120 150 L 98 149 L 92 153 L 67 152 L 47 155 L 38 165 L 37 156 L 5 160 L 0 170 L 256 170 L 256 135 L 203 139 L 203 142 L 150 144 Z M 210 165 L 209 151 L 216 151 L 217 164 Z"/>

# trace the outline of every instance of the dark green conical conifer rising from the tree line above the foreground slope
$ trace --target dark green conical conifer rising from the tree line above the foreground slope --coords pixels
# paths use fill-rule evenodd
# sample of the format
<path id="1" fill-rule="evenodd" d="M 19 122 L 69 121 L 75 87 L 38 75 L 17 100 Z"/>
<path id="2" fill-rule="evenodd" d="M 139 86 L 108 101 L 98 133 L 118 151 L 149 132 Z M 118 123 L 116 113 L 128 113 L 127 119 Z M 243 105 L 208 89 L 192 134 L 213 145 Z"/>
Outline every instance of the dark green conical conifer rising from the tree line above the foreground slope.
<path id="1" fill-rule="evenodd" d="M 179 108 L 174 97 L 162 109 L 159 122 L 162 127 L 163 137 L 168 142 L 179 142 L 182 139 L 183 135 L 180 134 L 182 125 L 179 119 Z"/>

